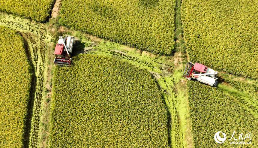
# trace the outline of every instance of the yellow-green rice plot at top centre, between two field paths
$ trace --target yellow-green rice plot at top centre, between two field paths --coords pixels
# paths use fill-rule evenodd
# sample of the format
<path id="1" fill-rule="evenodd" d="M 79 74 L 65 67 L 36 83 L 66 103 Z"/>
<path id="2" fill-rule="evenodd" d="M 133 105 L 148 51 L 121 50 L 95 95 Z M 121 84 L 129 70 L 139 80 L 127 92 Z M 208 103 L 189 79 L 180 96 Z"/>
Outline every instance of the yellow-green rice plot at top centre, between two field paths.
<path id="1" fill-rule="evenodd" d="M 175 50 L 175 0 L 64 0 L 61 24 L 142 50 Z"/>

